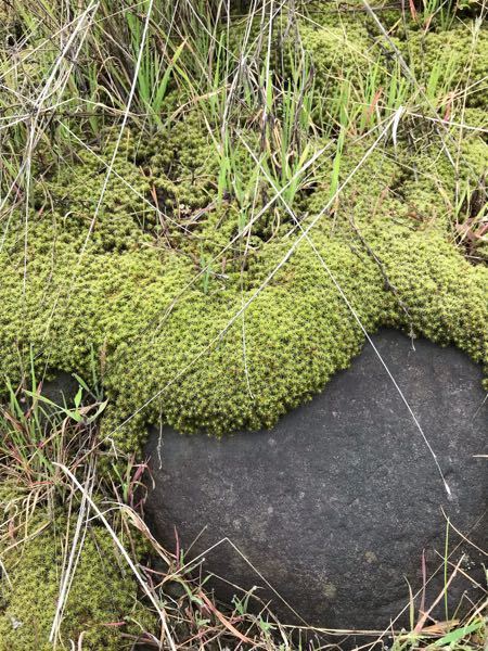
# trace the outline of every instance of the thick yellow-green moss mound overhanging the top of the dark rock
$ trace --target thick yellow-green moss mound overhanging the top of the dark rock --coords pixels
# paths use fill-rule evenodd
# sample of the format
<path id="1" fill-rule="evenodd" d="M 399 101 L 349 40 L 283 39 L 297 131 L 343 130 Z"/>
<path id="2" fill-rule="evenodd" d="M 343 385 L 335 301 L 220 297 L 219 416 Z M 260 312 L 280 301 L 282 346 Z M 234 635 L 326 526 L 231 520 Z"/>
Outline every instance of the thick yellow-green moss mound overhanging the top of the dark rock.
<path id="1" fill-rule="evenodd" d="M 344 178 L 370 144 L 345 151 Z M 210 157 L 211 144 L 206 146 Z M 473 137 L 465 150 L 480 168 L 486 143 Z M 140 179 L 131 151 L 120 153 L 117 168 Z M 367 329 L 395 326 L 452 342 L 486 361 L 487 270 L 471 265 L 453 244 L 447 204 L 454 170 L 441 162 L 431 175 L 428 152 L 411 154 L 403 146 L 399 156 L 402 165 L 393 148 L 373 154 L 311 240 Z M 404 171 L 422 165 L 421 179 Z M 52 184 L 69 189 L 80 178 L 92 203 L 98 166 L 84 162 L 69 183 L 63 176 Z M 143 196 L 150 183 L 140 181 Z M 300 215 L 309 215 L 301 217 L 303 227 L 329 192 L 325 181 L 299 199 Z M 23 239 L 13 231 L 7 237 L 0 257 L 4 371 L 14 375 L 20 352 L 27 355 L 33 346 L 38 361 L 88 375 L 94 353 L 111 399 L 105 433 L 123 449 L 138 449 L 144 423 L 160 418 L 179 430 L 214 434 L 270 426 L 359 352 L 361 330 L 307 240 L 296 245 L 300 231 L 282 209 L 256 228 L 244 268 L 233 205 L 211 206 L 190 228 L 178 207 L 169 212 L 169 242 L 179 242 L 182 228 L 189 232 L 184 247 L 171 248 L 159 243 L 154 209 L 116 177 L 80 254 L 91 212 L 84 218 L 81 197 L 69 190 L 66 195 L 65 215 L 55 214 L 51 222 L 31 215 L 25 292 Z M 277 219 L 280 226 L 267 239 Z"/>

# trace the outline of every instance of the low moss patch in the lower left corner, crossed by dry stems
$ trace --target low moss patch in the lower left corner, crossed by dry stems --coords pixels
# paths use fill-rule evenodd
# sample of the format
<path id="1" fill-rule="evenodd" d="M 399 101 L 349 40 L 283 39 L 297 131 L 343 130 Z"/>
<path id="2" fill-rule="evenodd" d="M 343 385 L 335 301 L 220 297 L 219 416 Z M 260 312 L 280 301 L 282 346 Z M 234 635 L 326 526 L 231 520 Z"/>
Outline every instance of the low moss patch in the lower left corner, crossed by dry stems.
<path id="1" fill-rule="evenodd" d="M 3 485 L 2 513 L 12 511 L 18 489 Z M 12 515 L 12 513 L 10 513 Z M 72 533 L 74 525 L 72 523 Z M 15 531 L 15 529 L 14 529 Z M 66 518 L 37 508 L 27 524 L 18 526 L 0 548 L 0 649 L 50 651 L 52 622 L 59 598 L 66 545 Z M 18 536 L 18 537 L 16 537 Z M 8 578 L 7 578 L 8 577 Z M 64 609 L 57 647 L 119 651 L 155 626 L 153 615 L 138 598 L 137 584 L 119 558 L 106 529 L 89 525 Z M 132 640 L 123 634 L 132 636 Z"/>

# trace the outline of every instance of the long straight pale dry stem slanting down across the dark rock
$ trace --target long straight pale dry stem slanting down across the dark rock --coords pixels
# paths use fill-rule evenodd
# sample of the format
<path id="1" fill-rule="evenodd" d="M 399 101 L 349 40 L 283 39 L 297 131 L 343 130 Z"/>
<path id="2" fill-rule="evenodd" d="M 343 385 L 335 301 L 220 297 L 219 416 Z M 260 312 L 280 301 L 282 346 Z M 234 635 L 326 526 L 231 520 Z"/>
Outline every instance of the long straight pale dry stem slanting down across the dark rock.
<path id="1" fill-rule="evenodd" d="M 394 114 L 394 116 L 388 120 L 388 125 L 387 125 L 387 129 L 391 128 L 395 125 L 395 122 L 397 120 L 397 114 L 400 114 L 400 112 L 402 111 L 402 108 L 400 107 L 398 110 L 398 112 L 396 114 Z M 245 144 L 245 143 L 244 143 Z M 257 159 L 257 157 L 254 155 L 254 153 L 252 152 L 251 148 L 248 149 L 251 155 L 253 156 L 254 161 L 256 164 L 259 164 L 259 161 Z M 356 168 L 355 168 L 356 169 Z M 262 173 L 266 175 L 266 170 L 264 168 L 261 168 Z M 350 175 L 349 177 L 350 178 Z M 268 182 L 272 183 L 272 179 L 270 179 L 268 177 Z M 344 183 L 341 186 L 341 190 L 342 188 L 344 188 Z M 274 188 L 274 190 L 277 191 L 278 189 Z M 328 202 L 328 209 L 329 207 L 332 205 L 332 202 L 338 196 L 338 192 L 339 189 L 336 190 L 336 192 L 332 195 L 332 197 L 329 200 Z M 359 318 L 358 312 L 356 311 L 355 307 L 352 306 L 352 304 L 350 303 L 349 298 L 347 297 L 346 293 L 344 292 L 344 290 L 342 289 L 341 284 L 337 282 L 337 279 L 335 278 L 335 276 L 332 273 L 331 269 L 329 268 L 329 265 L 326 264 L 326 261 L 324 260 L 323 256 L 320 254 L 320 252 L 318 251 L 318 248 L 316 247 L 313 241 L 310 239 L 309 237 L 309 231 L 310 226 L 308 226 L 306 229 L 304 229 L 304 226 L 301 225 L 300 220 L 297 218 L 297 216 L 295 215 L 295 213 L 292 210 L 292 208 L 290 207 L 290 205 L 286 204 L 286 202 L 284 201 L 283 197 L 281 197 L 281 202 L 284 205 L 284 208 L 286 209 L 286 212 L 290 214 L 290 216 L 292 217 L 292 219 L 296 222 L 296 225 L 298 226 L 299 230 L 300 230 L 300 238 L 305 238 L 306 241 L 308 242 L 308 244 L 311 246 L 311 248 L 313 250 L 313 253 L 317 255 L 320 264 L 322 265 L 322 267 L 325 269 L 329 278 L 332 280 L 334 286 L 336 288 L 337 292 L 339 293 L 341 297 L 343 298 L 344 303 L 346 304 L 347 308 L 349 309 L 350 314 L 352 315 L 355 321 L 358 323 L 358 326 L 360 327 L 362 333 L 364 334 L 365 339 L 368 340 L 369 344 L 371 345 L 371 347 L 374 350 L 374 354 L 376 355 L 376 357 L 378 358 L 381 365 L 383 366 L 383 368 L 385 369 L 388 378 L 390 379 L 393 385 L 395 386 L 396 391 L 398 392 L 401 400 L 403 401 L 404 406 L 407 407 L 408 412 L 410 413 L 416 429 L 419 430 L 428 451 L 431 452 L 432 458 L 434 459 L 434 463 L 437 468 L 437 471 L 440 475 L 440 478 L 442 481 L 444 487 L 446 489 L 447 496 L 449 499 L 452 499 L 452 493 L 451 489 L 449 487 L 449 484 L 446 481 L 446 477 L 444 475 L 442 469 L 440 468 L 439 461 L 437 459 L 437 455 L 435 454 L 427 436 L 425 435 L 425 432 L 422 427 L 422 425 L 419 422 L 419 419 L 416 418 L 413 409 L 410 406 L 410 403 L 407 400 L 401 387 L 399 386 L 398 382 L 396 381 L 395 376 L 393 375 L 391 371 L 389 370 L 387 363 L 385 362 L 385 360 L 383 359 L 380 350 L 376 348 L 376 346 L 374 345 L 373 340 L 371 339 L 370 334 L 368 333 L 367 329 L 364 328 L 361 319 Z M 316 218 L 317 219 L 317 218 Z M 312 221 L 313 224 L 314 221 Z"/>

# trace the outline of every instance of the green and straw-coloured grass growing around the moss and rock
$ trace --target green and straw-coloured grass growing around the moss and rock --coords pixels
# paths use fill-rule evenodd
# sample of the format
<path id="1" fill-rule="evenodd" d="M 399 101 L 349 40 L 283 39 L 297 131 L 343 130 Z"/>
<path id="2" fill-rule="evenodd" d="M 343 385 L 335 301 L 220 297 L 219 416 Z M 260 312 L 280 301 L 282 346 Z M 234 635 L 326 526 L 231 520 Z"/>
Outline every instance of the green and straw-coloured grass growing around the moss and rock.
<path id="1" fill-rule="evenodd" d="M 483 126 L 465 122 L 467 100 L 474 92 L 470 79 L 473 61 L 470 69 L 464 71 L 466 82 L 459 78 L 454 54 L 447 66 L 434 62 L 420 80 L 411 66 L 408 48 L 399 53 L 398 38 L 389 36 L 401 22 L 400 15 L 388 27 L 381 23 L 382 28 L 365 54 L 358 52 L 354 37 L 350 40 L 347 37 L 341 47 L 350 56 L 349 63 L 338 63 L 326 82 L 319 84 L 316 62 L 304 46 L 299 29 L 299 25 L 316 24 L 313 2 L 253 0 L 247 8 L 230 4 L 227 0 L 175 3 L 12 0 L 0 4 L 10 28 L 10 34 L 5 34 L 7 44 L 0 48 L 1 247 L 7 233 L 15 228 L 21 210 L 25 225 L 25 281 L 29 221 L 33 212 L 39 209 L 35 187 L 46 190 L 55 165 L 70 166 L 81 146 L 100 158 L 104 178 L 78 265 L 67 286 L 61 290 L 54 309 L 67 310 L 70 302 L 76 301 L 75 279 L 103 210 L 105 190 L 111 178 L 118 175 L 116 153 L 127 127 L 139 133 L 142 143 L 170 132 L 182 115 L 196 108 L 207 129 L 216 156 L 216 174 L 214 194 L 208 197 L 206 209 L 211 212 L 233 202 L 239 222 L 236 232 L 231 233 L 217 255 L 208 253 L 205 241 L 194 246 L 197 271 L 191 283 L 198 283 L 204 294 L 213 291 L 213 279 L 229 255 L 237 255 L 242 260 L 244 285 L 252 237 L 265 217 L 271 224 L 262 235 L 267 241 L 280 237 L 286 216 L 286 238 L 300 233 L 251 297 L 244 299 L 243 294 L 241 309 L 209 341 L 200 357 L 218 344 L 235 321 L 242 321 L 245 357 L 246 309 L 286 264 L 298 243 L 303 239 L 311 242 L 316 224 L 338 209 L 344 189 L 354 183 L 370 154 L 383 148 L 386 151 L 386 143 L 391 140 L 396 143 L 397 139 L 416 139 L 414 145 L 421 149 L 432 143 L 434 130 L 439 156 L 446 155 L 459 169 L 464 165 L 463 130 L 486 131 Z M 373 11 L 367 2 L 363 4 L 364 13 Z M 484 3 L 475 9 L 479 18 L 474 23 L 473 43 L 486 16 Z M 426 0 L 422 4 L 410 3 L 407 13 L 410 13 L 408 20 L 428 35 L 452 29 L 458 21 L 468 20 L 468 11 L 470 8 L 446 0 Z M 337 7 L 337 15 L 346 20 L 347 7 Z M 374 16 L 380 21 L 381 12 Z M 344 31 L 347 36 L 346 27 Z M 377 43 L 389 52 L 386 59 L 378 55 Z M 413 128 L 414 120 L 421 124 L 420 129 Z M 114 135 L 116 144 L 107 162 L 98 152 L 104 151 L 104 142 L 114 142 Z M 346 174 L 345 152 L 368 138 L 371 145 L 367 154 Z M 398 165 L 401 164 L 399 159 Z M 486 186 L 467 165 L 466 169 L 466 176 L 460 177 L 448 218 L 459 246 L 467 246 L 468 255 L 476 257 L 478 241 L 486 234 L 486 206 L 466 220 L 466 204 L 474 204 L 474 191 L 483 193 Z M 170 176 L 171 170 L 167 174 Z M 325 206 L 314 216 L 303 215 L 304 197 L 324 180 L 329 184 Z M 442 182 L 440 175 L 438 182 Z M 127 184 L 129 192 L 138 193 Z M 141 201 L 156 213 L 162 228 L 169 219 L 183 232 L 190 232 L 180 216 L 159 207 L 156 190 L 150 199 L 142 196 Z M 41 209 L 49 213 L 50 203 L 46 190 Z M 197 220 L 198 213 L 193 218 Z M 326 263 L 321 261 L 328 271 Z M 182 292 L 188 289 L 187 285 Z M 355 315 L 354 308 L 350 309 Z M 157 328 L 164 318 L 160 317 Z M 357 315 L 356 318 L 359 321 Z M 360 321 L 359 324 L 362 328 Z M 95 378 L 97 363 L 93 361 Z M 12 528 L 25 528 L 33 518 L 33 508 L 53 511 L 55 506 L 68 513 L 68 528 L 76 536 L 73 540 L 60 534 L 64 573 L 53 639 L 63 621 L 76 570 L 76 550 L 78 545 L 82 547 L 86 535 L 81 533 L 85 526 L 81 522 L 88 522 L 89 531 L 93 521 L 108 532 L 138 583 L 141 603 L 155 615 L 157 626 L 144 630 L 140 638 L 151 648 L 318 650 L 329 648 L 331 639 L 341 644 L 354 634 L 288 626 L 251 593 L 236 599 L 233 609 L 218 604 L 198 575 L 198 564 L 187 560 L 182 550 L 172 553 L 162 549 L 144 524 L 138 493 L 144 464 L 119 450 L 107 454 L 101 445 L 106 443 L 99 426 L 106 407 L 101 388 L 93 388 L 95 384 L 90 388 L 89 383 L 77 378 L 79 391 L 72 403 L 56 405 L 43 395 L 34 369 L 33 363 L 28 380 L 22 385 L 5 381 L 7 398 L 0 420 L 0 476 L 3 483 L 13 482 L 21 487 L 22 498 L 15 503 L 16 514 L 2 525 L 0 542 L 9 547 Z M 178 380 L 179 375 L 172 383 Z M 151 400 L 155 398 L 157 395 Z M 145 407 L 146 404 L 142 405 L 138 411 Z M 150 550 L 147 565 L 141 564 L 140 554 L 134 551 L 140 539 Z M 22 548 L 24 542 L 20 535 L 16 545 Z M 451 567 L 448 559 L 447 547 L 446 589 L 461 571 L 459 566 Z M 438 596 L 439 600 L 444 598 L 444 593 Z M 486 601 L 473 604 L 472 612 L 461 621 L 450 620 L 447 613 L 445 622 L 435 623 L 429 621 L 428 604 L 423 613 L 415 612 L 412 604 L 410 630 L 394 630 L 393 640 L 388 640 L 395 651 L 481 648 L 486 639 Z M 324 633 L 333 637 L 324 638 Z M 373 648 L 380 643 L 378 639 L 386 643 L 390 631 L 378 633 L 370 631 L 361 648 Z"/>

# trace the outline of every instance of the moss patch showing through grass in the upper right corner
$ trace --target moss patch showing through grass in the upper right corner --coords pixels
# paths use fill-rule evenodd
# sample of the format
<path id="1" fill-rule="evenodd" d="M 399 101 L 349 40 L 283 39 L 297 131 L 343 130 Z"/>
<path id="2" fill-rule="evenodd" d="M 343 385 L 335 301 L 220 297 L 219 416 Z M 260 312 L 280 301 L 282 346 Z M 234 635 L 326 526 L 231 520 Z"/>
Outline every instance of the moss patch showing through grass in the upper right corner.
<path id="1" fill-rule="evenodd" d="M 462 84 L 470 86 L 466 106 L 488 106 L 487 87 L 480 82 L 488 74 L 486 25 L 475 28 L 474 23 L 457 22 L 451 29 L 433 31 L 416 30 L 415 25 L 410 24 L 404 30 L 403 22 L 396 14 L 391 28 L 390 40 L 415 78 L 415 84 L 407 84 L 408 97 L 421 91 L 427 95 L 427 102 L 444 114 L 448 105 L 451 107 L 451 100 Z M 400 68 L 390 46 L 381 39 L 372 42 L 371 35 L 377 34 L 377 27 L 370 18 L 360 21 L 352 14 L 338 20 L 336 11 L 324 11 L 317 21 L 303 25 L 300 34 L 304 48 L 313 61 L 317 88 L 329 104 L 337 98 L 344 80 L 349 81 L 349 93 L 356 102 L 371 89 L 370 101 L 374 91 L 381 91 L 384 101 L 388 101 L 393 85 L 398 84 Z M 466 80 L 471 80 L 471 85 Z M 422 100 L 422 95 L 419 99 Z M 399 98 L 399 103 L 403 102 L 407 97 Z M 328 102 L 322 103 L 320 111 L 326 110 Z"/>

